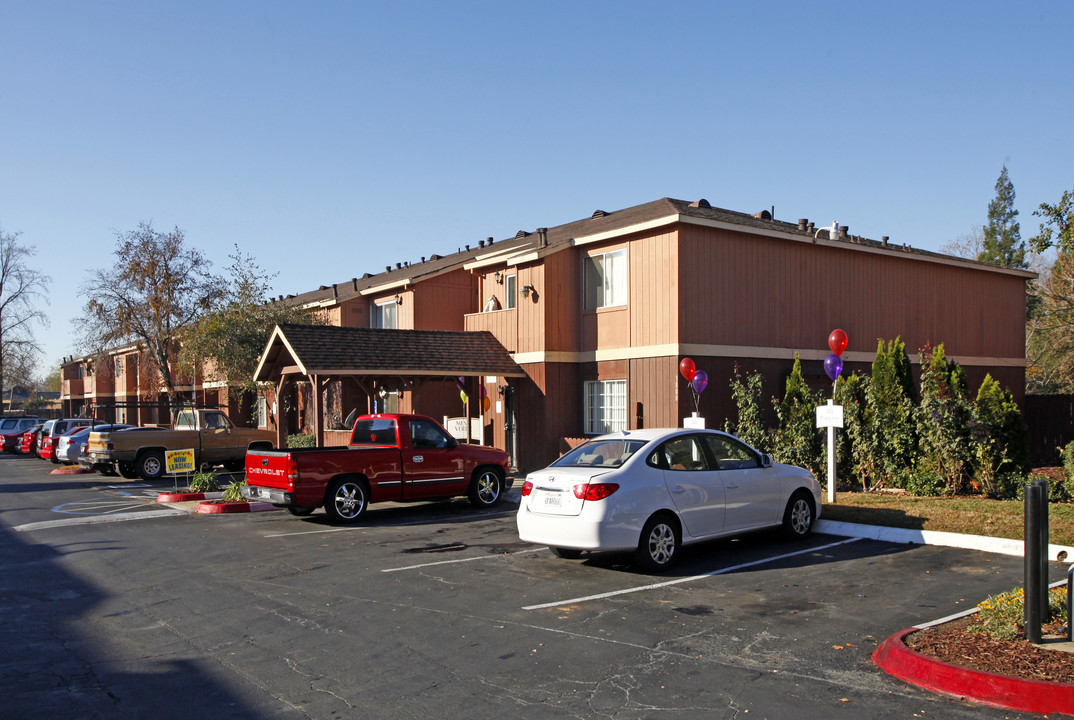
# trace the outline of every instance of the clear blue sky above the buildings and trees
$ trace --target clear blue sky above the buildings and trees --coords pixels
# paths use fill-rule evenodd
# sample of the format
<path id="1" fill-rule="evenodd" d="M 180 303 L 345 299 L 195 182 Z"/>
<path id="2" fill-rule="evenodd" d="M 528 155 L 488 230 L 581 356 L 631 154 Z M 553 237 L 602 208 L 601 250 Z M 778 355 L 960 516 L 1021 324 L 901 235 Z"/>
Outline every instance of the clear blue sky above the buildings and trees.
<path id="1" fill-rule="evenodd" d="M 1029 237 L 1074 188 L 1072 27 L 1065 1 L 5 0 L 0 228 L 53 277 L 46 365 L 141 221 L 290 293 L 662 197 L 940 249 L 1005 163 Z"/>

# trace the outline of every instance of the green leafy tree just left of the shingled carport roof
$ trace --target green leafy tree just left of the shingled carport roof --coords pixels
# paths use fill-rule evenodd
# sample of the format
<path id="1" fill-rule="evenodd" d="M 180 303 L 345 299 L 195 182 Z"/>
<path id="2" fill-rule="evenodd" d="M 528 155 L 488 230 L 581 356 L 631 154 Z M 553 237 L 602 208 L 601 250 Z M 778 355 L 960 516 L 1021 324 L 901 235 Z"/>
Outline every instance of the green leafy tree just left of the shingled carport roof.
<path id="1" fill-rule="evenodd" d="M 206 366 L 229 388 L 257 390 L 253 372 L 273 328 L 284 323 L 322 320 L 313 311 L 286 301 L 267 299 L 275 275 L 261 271 L 253 258 L 235 246 L 229 280 L 213 306 L 184 335 L 180 364 L 187 371 Z"/>

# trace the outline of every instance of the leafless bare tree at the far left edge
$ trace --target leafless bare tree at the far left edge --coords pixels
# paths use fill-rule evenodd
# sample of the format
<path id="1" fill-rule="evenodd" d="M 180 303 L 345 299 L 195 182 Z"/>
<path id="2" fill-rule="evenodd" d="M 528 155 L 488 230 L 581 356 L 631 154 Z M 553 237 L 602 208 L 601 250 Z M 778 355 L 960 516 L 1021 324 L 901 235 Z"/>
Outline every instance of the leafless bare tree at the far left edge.
<path id="1" fill-rule="evenodd" d="M 43 305 L 52 278 L 30 267 L 38 250 L 20 245 L 20 233 L 0 229 L 0 388 L 27 384 L 41 347 L 34 326 L 48 326 Z"/>

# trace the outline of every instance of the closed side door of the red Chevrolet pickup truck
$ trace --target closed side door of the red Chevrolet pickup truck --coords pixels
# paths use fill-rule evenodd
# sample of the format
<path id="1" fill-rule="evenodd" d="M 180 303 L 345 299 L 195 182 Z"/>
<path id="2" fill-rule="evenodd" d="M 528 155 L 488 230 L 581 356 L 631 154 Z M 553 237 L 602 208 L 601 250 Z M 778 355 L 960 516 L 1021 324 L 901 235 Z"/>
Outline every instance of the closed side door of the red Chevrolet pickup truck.
<path id="1" fill-rule="evenodd" d="M 442 498 L 459 494 L 469 481 L 463 452 L 435 422 L 410 420 L 410 447 L 403 450 L 403 496 Z"/>

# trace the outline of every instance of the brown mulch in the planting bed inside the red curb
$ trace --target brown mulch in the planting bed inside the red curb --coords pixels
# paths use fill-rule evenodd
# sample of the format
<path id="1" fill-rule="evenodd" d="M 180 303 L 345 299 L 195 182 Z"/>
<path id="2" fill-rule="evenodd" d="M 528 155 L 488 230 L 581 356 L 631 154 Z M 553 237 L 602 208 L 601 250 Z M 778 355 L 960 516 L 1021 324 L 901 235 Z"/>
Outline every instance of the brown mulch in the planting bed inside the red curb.
<path id="1" fill-rule="evenodd" d="M 906 645 L 921 654 L 953 665 L 1046 682 L 1074 682 L 1074 653 L 1049 650 L 1025 639 L 997 640 L 968 630 L 973 616 L 928 628 L 906 636 Z M 1045 625 L 1044 635 L 1059 628 Z"/>

